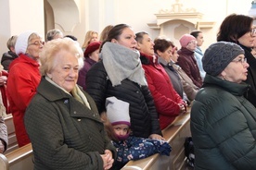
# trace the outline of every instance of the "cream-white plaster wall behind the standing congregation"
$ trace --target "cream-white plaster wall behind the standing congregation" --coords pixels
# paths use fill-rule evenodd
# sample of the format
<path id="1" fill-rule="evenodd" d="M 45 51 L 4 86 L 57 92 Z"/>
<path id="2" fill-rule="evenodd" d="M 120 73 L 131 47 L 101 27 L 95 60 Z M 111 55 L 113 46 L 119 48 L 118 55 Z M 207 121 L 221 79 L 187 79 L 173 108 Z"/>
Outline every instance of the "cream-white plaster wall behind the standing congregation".
<path id="1" fill-rule="evenodd" d="M 60 1 L 60 0 L 59 0 Z M 160 30 L 152 30 L 147 23 L 156 23 L 154 14 L 160 9 L 171 9 L 176 0 L 74 0 L 79 8 L 80 23 L 70 32 L 83 44 L 87 30 L 96 30 L 100 33 L 105 26 L 126 23 L 134 31 L 147 31 L 154 39 L 160 35 Z M 215 21 L 212 29 L 203 29 L 205 50 L 211 42 L 215 42 L 217 30 L 223 19 L 231 14 L 247 15 L 252 0 L 180 0 L 184 8 L 196 8 L 203 14 L 206 21 Z M 67 11 L 69 12 L 69 11 Z M 14 34 L 24 30 L 35 30 L 45 34 L 44 0 L 0 0 L 0 55 L 7 51 L 6 41 Z M 57 29 L 61 29 L 55 24 Z M 173 35 L 172 26 L 167 27 L 173 42 L 179 46 L 178 38 Z"/>

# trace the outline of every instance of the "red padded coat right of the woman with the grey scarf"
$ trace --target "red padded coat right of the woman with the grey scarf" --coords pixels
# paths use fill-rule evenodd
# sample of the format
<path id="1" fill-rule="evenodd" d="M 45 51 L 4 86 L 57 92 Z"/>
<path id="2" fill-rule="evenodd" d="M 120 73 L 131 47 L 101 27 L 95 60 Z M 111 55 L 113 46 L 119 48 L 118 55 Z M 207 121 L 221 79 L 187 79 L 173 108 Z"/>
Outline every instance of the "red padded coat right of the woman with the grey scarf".
<path id="1" fill-rule="evenodd" d="M 148 88 L 154 98 L 160 116 L 160 128 L 169 126 L 180 113 L 178 103 L 183 103 L 179 94 L 174 91 L 172 82 L 165 69 L 152 56 L 140 54 L 142 67 L 145 70 Z"/>

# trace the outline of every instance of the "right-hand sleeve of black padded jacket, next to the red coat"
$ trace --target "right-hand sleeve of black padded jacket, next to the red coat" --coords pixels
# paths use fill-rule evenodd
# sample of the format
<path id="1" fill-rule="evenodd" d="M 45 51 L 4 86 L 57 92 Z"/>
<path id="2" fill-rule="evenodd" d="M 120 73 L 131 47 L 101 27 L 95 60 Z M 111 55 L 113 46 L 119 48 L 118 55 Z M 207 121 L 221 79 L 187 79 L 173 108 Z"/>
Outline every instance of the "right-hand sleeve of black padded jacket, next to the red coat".
<path id="1" fill-rule="evenodd" d="M 147 86 L 142 86 L 141 90 L 144 94 L 145 101 L 147 103 L 148 113 L 151 117 L 151 134 L 161 134 L 159 116 L 156 110 L 156 106 L 153 97 L 148 90 Z"/>

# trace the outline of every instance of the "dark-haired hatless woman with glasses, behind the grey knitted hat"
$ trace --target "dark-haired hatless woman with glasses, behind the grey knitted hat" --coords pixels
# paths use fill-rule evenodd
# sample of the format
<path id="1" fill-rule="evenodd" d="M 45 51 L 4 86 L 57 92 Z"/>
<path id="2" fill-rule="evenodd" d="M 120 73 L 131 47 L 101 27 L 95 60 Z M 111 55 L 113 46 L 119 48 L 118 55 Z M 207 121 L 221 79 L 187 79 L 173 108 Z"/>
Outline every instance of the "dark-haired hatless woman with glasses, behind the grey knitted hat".
<path id="1" fill-rule="evenodd" d="M 245 57 L 250 65 L 245 82 L 250 84 L 250 90 L 245 97 L 256 107 L 256 59 L 250 53 L 256 30 L 253 27 L 253 18 L 244 15 L 231 14 L 224 18 L 217 35 L 217 41 L 235 42 L 245 51 Z"/>

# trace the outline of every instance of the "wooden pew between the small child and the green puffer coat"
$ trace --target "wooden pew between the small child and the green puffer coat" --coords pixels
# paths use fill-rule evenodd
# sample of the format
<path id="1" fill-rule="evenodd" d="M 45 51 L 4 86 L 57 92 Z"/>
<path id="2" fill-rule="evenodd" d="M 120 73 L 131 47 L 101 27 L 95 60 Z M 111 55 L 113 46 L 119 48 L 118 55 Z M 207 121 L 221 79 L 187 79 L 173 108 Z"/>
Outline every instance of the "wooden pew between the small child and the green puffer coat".
<path id="1" fill-rule="evenodd" d="M 170 156 L 154 154 L 142 160 L 130 161 L 122 170 L 186 169 L 184 142 L 190 133 L 190 108 L 185 115 L 176 117 L 173 124 L 162 130 L 163 137 L 172 146 Z"/>

